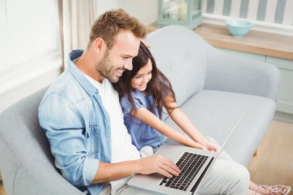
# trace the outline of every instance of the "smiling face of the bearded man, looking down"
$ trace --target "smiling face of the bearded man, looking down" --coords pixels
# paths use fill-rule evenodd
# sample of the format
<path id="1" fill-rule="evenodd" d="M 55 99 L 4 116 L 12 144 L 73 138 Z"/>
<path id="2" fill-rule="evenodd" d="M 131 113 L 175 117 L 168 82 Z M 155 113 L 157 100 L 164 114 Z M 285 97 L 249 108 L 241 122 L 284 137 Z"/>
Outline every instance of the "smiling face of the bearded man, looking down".
<path id="1" fill-rule="evenodd" d="M 119 33 L 111 50 L 96 62 L 97 71 L 111 82 L 118 82 L 123 72 L 132 70 L 132 59 L 137 56 L 140 39 L 131 32 Z"/>

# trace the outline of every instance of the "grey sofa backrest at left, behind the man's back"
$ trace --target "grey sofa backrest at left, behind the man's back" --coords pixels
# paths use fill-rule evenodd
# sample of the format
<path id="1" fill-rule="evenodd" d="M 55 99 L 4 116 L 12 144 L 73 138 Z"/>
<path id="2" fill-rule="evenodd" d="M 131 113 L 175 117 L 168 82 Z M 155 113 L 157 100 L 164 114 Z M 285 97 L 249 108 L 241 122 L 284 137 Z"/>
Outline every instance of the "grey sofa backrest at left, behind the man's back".
<path id="1" fill-rule="evenodd" d="M 47 87 L 0 114 L 0 169 L 8 195 L 13 194 L 22 163 L 46 163 L 46 171 L 58 172 L 38 119 L 38 108 L 46 90 Z"/>

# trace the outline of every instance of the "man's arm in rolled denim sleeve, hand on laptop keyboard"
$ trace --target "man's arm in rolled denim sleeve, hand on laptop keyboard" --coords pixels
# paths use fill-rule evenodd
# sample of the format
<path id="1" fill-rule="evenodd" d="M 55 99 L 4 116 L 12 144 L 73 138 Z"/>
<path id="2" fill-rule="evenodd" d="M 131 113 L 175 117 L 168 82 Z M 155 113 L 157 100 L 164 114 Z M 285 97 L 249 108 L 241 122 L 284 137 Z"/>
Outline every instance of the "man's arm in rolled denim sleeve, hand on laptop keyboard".
<path id="1" fill-rule="evenodd" d="M 39 108 L 39 121 L 50 142 L 55 165 L 74 186 L 112 181 L 136 173 L 178 176 L 177 166 L 163 156 L 120 163 L 105 163 L 86 156 L 87 145 L 80 113 L 61 94 L 52 94 Z M 177 174 L 176 174 L 177 172 Z"/>

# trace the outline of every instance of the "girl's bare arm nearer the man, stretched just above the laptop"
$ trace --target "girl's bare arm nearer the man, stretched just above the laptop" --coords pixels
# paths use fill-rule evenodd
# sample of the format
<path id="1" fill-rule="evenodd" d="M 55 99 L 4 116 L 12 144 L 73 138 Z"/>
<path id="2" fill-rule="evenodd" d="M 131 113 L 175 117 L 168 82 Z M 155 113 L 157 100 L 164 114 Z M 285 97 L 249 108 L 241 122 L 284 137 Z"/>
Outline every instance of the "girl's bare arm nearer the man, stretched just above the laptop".
<path id="1" fill-rule="evenodd" d="M 154 114 L 148 111 L 145 107 L 142 107 L 136 110 L 136 113 L 134 113 L 134 111 L 130 111 L 130 114 L 132 114 L 134 117 L 137 117 L 141 121 L 145 122 L 147 125 L 151 126 L 152 128 L 158 130 L 160 133 L 164 134 L 165 136 L 179 143 L 185 144 L 192 148 L 207 150 L 203 145 L 196 143 L 189 137 L 186 137 L 182 135 L 181 133 L 177 132 L 176 130 L 172 129 L 171 127 L 169 127 L 162 120 L 160 120 L 160 118 L 156 117 Z"/>

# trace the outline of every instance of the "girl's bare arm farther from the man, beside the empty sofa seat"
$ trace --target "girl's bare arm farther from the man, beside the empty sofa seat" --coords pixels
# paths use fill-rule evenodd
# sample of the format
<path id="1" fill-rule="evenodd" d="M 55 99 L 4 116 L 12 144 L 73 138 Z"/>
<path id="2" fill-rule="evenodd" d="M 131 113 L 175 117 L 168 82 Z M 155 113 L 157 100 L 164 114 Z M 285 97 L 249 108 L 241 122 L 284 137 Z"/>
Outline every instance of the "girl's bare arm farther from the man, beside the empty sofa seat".
<path id="1" fill-rule="evenodd" d="M 188 117 L 179 109 L 174 99 L 168 95 L 167 96 L 167 106 L 173 109 L 167 109 L 168 114 L 172 118 L 172 120 L 194 141 L 202 144 L 208 150 L 213 150 L 217 152 L 217 148 L 214 144 L 210 143 L 209 140 L 204 137 L 190 122 Z"/>

